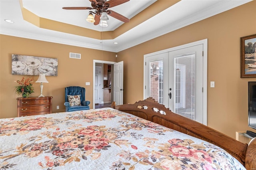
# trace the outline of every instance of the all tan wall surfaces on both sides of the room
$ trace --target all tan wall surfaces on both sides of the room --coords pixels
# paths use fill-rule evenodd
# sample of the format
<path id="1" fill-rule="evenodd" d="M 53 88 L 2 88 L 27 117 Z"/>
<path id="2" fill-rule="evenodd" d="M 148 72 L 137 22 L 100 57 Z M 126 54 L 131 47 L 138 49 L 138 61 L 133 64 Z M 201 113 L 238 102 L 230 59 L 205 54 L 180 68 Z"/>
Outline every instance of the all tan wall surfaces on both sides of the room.
<path id="1" fill-rule="evenodd" d="M 247 122 L 247 83 L 256 78 L 240 78 L 240 37 L 256 34 L 255 7 L 256 1 L 252 1 L 119 52 L 117 61 L 124 61 L 124 103 L 143 99 L 144 54 L 207 38 L 208 126 L 231 137 L 235 137 L 235 131 L 256 132 Z M 64 87 L 69 85 L 86 87 L 86 99 L 92 101 L 93 59 L 116 61 L 116 53 L 104 52 L 103 58 L 99 50 L 3 35 L 0 50 L 0 118 L 16 117 L 14 80 L 22 76 L 11 75 L 12 53 L 58 58 L 58 76 L 47 77 L 49 83 L 44 84 L 43 91 L 54 97 L 53 112 L 64 111 Z M 82 59 L 69 59 L 69 52 L 81 53 Z M 68 69 L 70 65 L 75 71 Z M 85 86 L 86 81 L 91 85 Z M 215 88 L 210 88 L 210 81 L 215 81 Z M 40 95 L 39 86 L 34 85 L 33 96 Z M 55 109 L 56 105 L 60 110 Z"/>

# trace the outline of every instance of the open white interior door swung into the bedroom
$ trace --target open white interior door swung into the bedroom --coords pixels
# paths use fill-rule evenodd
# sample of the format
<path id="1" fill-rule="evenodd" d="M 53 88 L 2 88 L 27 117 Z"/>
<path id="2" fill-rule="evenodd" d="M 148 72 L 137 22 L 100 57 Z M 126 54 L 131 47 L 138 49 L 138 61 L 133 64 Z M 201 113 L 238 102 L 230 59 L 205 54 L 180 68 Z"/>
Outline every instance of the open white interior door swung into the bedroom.
<path id="1" fill-rule="evenodd" d="M 120 61 L 114 64 L 114 99 L 116 105 L 123 104 L 124 98 L 124 83 L 123 83 L 123 75 L 124 75 L 124 62 Z"/>

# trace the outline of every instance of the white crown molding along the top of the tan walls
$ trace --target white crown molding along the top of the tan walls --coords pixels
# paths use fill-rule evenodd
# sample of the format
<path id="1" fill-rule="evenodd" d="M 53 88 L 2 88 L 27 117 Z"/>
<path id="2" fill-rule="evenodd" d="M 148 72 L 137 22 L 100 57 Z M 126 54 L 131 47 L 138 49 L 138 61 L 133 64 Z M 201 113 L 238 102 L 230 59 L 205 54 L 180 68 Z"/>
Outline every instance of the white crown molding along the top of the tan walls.
<path id="1" fill-rule="evenodd" d="M 235 8 L 237 6 L 240 6 L 242 4 L 246 4 L 252 0 L 238 0 L 238 1 L 221 1 L 220 3 L 211 6 L 209 8 L 205 8 L 204 10 L 198 11 L 197 13 L 190 15 L 186 18 L 183 18 L 182 20 L 178 20 L 174 23 L 170 23 L 161 29 L 157 30 L 152 30 L 150 34 L 138 36 L 135 40 L 129 40 L 124 43 L 124 45 L 118 45 L 114 47 L 109 47 L 106 45 L 92 45 L 90 43 L 84 43 L 84 39 L 80 39 L 79 41 L 74 41 L 74 40 L 69 40 L 65 38 L 53 38 L 52 36 L 45 36 L 42 34 L 32 34 L 29 32 L 21 32 L 21 31 L 16 31 L 16 30 L 10 30 L 10 29 L 5 29 L 0 27 L 0 34 L 8 35 L 8 36 L 15 36 L 15 37 L 20 37 L 20 38 L 28 38 L 28 39 L 33 39 L 33 40 L 40 40 L 40 41 L 45 41 L 45 42 L 53 42 L 53 43 L 60 43 L 60 44 L 65 44 L 65 45 L 73 45 L 73 46 L 78 46 L 78 47 L 85 47 L 85 48 L 90 48 L 90 49 L 98 49 L 98 50 L 104 50 L 104 51 L 110 51 L 110 52 L 119 52 L 123 51 L 125 49 L 128 49 L 130 47 L 139 45 L 141 43 L 147 42 L 149 40 L 152 40 L 154 38 L 157 38 L 159 36 L 162 36 L 164 34 L 173 32 L 175 30 L 178 30 L 180 28 L 183 28 L 185 26 L 188 26 L 190 24 L 199 22 L 201 20 L 204 20 L 206 18 L 209 18 L 211 16 L 214 16 L 216 14 L 220 14 L 222 12 L 225 12 L 227 10 L 230 10 L 232 8 Z M 170 7 L 171 8 L 171 7 Z M 142 23 L 143 24 L 143 23 Z M 130 31 L 136 30 L 136 28 L 133 28 Z M 61 33 L 65 37 L 67 35 L 66 33 Z M 76 35 L 72 35 L 76 36 Z M 80 36 L 77 36 L 80 38 Z M 122 35 L 120 36 L 122 38 Z M 94 41 L 94 39 L 91 39 Z M 106 40 L 108 41 L 108 40 Z M 86 40 L 86 42 L 90 42 Z"/>

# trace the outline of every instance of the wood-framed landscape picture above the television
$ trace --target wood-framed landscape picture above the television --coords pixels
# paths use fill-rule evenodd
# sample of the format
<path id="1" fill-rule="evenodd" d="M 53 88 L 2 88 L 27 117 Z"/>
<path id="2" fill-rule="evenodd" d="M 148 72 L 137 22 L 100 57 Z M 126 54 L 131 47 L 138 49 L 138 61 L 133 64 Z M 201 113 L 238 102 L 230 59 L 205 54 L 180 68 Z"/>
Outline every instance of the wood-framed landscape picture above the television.
<path id="1" fill-rule="evenodd" d="M 256 77 L 256 34 L 240 38 L 241 78 Z"/>

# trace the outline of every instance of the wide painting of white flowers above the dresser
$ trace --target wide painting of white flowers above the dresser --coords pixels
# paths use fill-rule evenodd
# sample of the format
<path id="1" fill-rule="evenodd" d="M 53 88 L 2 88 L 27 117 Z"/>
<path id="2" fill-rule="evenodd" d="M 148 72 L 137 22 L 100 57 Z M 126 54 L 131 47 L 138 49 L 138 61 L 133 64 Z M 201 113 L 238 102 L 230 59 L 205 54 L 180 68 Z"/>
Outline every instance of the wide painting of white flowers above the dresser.
<path id="1" fill-rule="evenodd" d="M 58 75 L 58 59 L 12 54 L 12 74 Z"/>

